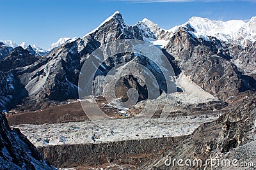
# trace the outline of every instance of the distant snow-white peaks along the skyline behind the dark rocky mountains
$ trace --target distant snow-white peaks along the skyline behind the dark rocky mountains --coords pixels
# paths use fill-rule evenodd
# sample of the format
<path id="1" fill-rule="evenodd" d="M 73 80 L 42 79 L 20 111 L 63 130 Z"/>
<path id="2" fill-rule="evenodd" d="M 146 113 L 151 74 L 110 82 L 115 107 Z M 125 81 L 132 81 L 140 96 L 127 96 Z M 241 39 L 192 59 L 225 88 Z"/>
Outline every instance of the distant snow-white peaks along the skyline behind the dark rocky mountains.
<path id="1" fill-rule="evenodd" d="M 116 11 L 116 13 L 118 13 L 118 11 Z M 107 20 L 109 20 L 109 18 Z M 104 22 L 106 22 L 107 20 L 105 20 Z M 104 24 L 104 22 L 102 22 L 102 24 Z M 170 32 L 170 35 L 172 35 L 174 32 L 177 31 L 177 29 L 179 29 L 179 27 L 187 27 L 191 28 L 191 33 L 197 38 L 209 39 L 208 36 L 215 36 L 221 41 L 237 43 L 240 45 L 245 45 L 246 43 L 248 43 L 248 41 L 253 42 L 256 40 L 256 17 L 252 17 L 248 22 L 244 22 L 243 20 L 228 20 L 226 22 L 223 22 L 221 20 L 209 20 L 208 18 L 191 17 L 188 22 L 182 25 L 177 25 L 171 29 L 161 29 L 157 24 L 148 20 L 147 18 L 144 18 L 141 22 L 147 24 L 147 26 L 150 28 L 150 31 L 154 32 L 156 36 L 162 31 Z M 97 28 L 95 30 L 97 30 Z M 48 50 L 44 50 L 36 45 L 31 45 L 31 47 L 33 48 L 33 50 L 35 50 L 36 53 L 44 56 L 52 49 L 57 48 L 58 46 L 71 39 L 77 38 L 60 38 L 58 39 L 58 41 L 56 41 L 56 43 L 52 43 Z M 26 42 L 22 42 L 20 45 L 17 45 L 17 43 L 12 40 L 4 40 L 1 42 L 3 42 L 6 46 L 10 46 L 12 48 L 22 46 L 22 48 L 26 49 L 29 46 Z"/>

